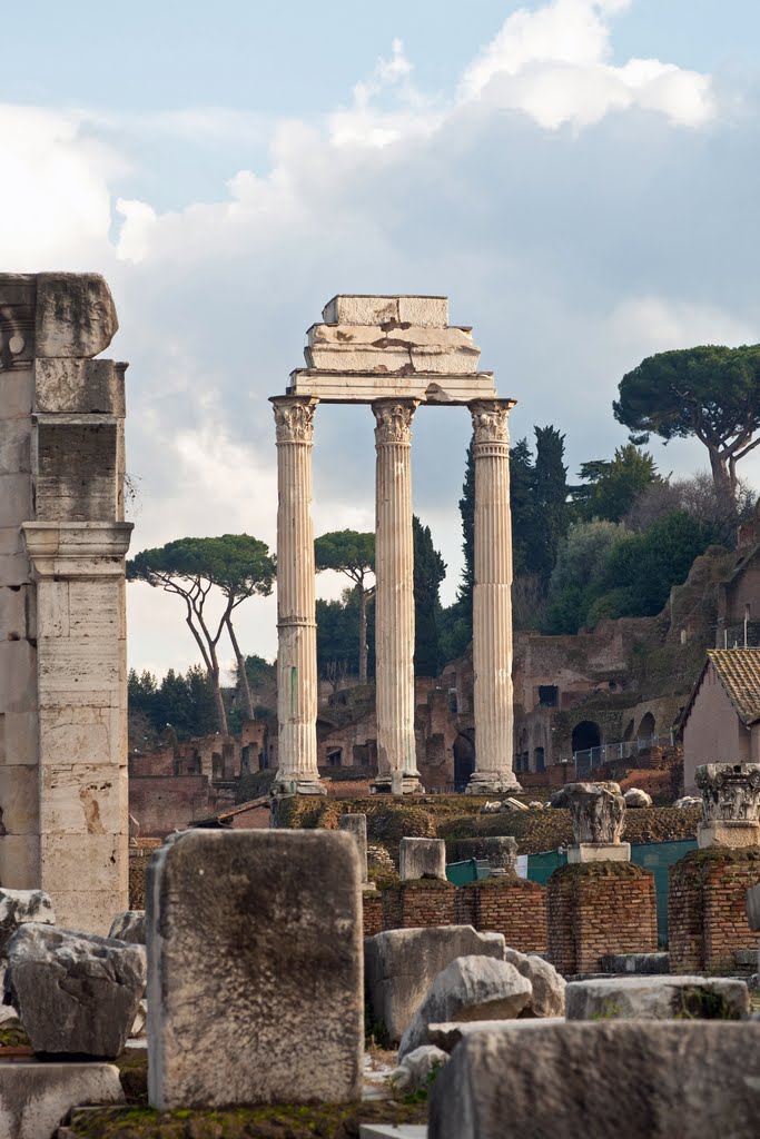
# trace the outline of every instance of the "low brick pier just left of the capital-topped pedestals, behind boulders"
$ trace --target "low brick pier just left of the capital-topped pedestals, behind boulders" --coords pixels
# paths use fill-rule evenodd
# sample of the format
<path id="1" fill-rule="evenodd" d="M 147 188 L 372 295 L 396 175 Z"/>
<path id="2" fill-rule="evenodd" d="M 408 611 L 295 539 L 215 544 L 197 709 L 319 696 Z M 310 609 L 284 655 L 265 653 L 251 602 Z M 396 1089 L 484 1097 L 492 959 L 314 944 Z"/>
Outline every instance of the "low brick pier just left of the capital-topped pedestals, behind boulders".
<path id="1" fill-rule="evenodd" d="M 546 890 L 524 878 L 490 878 L 457 892 L 457 921 L 481 933 L 502 933 L 521 953 L 547 948 Z"/>

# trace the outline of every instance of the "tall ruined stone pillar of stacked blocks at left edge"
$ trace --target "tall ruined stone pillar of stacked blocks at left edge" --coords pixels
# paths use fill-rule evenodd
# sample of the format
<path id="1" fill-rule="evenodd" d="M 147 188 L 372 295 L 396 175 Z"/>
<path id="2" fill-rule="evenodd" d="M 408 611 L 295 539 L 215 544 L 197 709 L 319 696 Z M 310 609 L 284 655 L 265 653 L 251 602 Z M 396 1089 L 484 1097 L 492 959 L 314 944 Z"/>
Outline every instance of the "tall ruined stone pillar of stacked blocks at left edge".
<path id="1" fill-rule="evenodd" d="M 124 370 L 103 278 L 0 276 L 0 882 L 128 903 Z"/>

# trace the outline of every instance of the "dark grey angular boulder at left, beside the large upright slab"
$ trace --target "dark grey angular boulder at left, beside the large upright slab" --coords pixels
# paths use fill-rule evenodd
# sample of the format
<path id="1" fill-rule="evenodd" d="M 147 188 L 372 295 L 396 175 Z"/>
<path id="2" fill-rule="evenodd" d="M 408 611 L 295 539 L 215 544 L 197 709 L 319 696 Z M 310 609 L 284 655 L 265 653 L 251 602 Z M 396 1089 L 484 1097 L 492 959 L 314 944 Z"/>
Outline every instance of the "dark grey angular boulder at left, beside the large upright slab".
<path id="1" fill-rule="evenodd" d="M 8 943 L 6 1000 L 41 1056 L 119 1056 L 145 982 L 141 945 L 36 924 Z"/>

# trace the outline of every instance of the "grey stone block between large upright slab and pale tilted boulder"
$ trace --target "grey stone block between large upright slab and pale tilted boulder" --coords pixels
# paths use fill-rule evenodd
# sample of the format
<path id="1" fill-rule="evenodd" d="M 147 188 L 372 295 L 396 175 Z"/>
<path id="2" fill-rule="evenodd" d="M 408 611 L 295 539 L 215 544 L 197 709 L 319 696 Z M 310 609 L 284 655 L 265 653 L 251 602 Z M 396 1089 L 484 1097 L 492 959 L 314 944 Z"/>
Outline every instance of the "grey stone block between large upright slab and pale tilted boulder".
<path id="1" fill-rule="evenodd" d="M 389 929 L 365 939 L 365 978 L 373 1018 L 398 1044 L 435 977 L 458 957 L 504 960 L 499 933 L 472 926 Z"/>

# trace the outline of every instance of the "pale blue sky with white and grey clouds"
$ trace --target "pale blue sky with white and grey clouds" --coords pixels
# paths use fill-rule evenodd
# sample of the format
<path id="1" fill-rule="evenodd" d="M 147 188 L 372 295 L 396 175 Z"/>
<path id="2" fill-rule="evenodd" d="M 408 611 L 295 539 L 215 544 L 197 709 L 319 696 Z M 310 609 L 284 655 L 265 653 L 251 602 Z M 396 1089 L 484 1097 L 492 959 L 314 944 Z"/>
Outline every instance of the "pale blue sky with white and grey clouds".
<path id="1" fill-rule="evenodd" d="M 0 270 L 112 287 L 132 552 L 273 546 L 268 396 L 336 293 L 448 295 L 518 401 L 513 439 L 554 424 L 571 481 L 627 441 L 611 404 L 644 357 L 760 341 L 755 0 L 27 0 L 2 23 Z M 414 425 L 444 600 L 468 419 Z M 314 437 L 316 533 L 373 528 L 370 410 L 320 407 Z M 760 487 L 757 452 L 743 474 Z M 132 666 L 195 663 L 177 599 L 132 584 L 128 606 Z M 247 652 L 273 657 L 275 621 L 245 603 Z"/>

